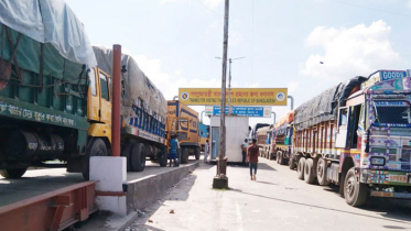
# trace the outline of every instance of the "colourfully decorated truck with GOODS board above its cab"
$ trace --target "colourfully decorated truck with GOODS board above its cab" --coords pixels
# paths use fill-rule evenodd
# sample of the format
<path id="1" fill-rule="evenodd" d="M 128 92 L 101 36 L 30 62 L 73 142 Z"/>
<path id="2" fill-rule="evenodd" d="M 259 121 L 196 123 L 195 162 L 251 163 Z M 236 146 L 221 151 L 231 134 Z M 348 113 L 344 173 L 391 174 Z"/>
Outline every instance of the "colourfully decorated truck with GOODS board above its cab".
<path id="1" fill-rule="evenodd" d="M 411 198 L 411 77 L 378 70 L 295 109 L 293 161 L 309 184 L 333 183 L 348 205 Z"/>

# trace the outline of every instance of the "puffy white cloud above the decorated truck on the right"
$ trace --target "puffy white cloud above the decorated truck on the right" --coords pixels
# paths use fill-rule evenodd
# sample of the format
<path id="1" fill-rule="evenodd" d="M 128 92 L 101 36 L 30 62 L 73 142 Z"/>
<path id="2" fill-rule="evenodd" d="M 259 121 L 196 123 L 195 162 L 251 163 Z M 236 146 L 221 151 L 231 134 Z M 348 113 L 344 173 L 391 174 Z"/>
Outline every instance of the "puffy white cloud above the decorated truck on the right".
<path id="1" fill-rule="evenodd" d="M 300 74 L 346 80 L 358 75 L 368 76 L 377 69 L 398 68 L 401 58 L 389 41 L 390 32 L 391 26 L 381 20 L 369 26 L 358 24 L 349 29 L 317 26 L 305 43 L 309 47 L 321 47 L 324 54 L 310 55 L 300 66 Z"/>

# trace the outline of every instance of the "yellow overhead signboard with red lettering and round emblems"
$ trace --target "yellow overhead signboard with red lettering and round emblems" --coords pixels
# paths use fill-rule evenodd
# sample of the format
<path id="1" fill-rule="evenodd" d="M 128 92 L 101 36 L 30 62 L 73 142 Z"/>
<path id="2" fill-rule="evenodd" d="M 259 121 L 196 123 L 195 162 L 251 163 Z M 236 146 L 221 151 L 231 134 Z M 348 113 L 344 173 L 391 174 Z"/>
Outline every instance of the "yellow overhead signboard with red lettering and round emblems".
<path id="1" fill-rule="evenodd" d="M 286 106 L 286 88 L 231 88 L 231 106 Z M 218 106 L 220 88 L 180 88 L 179 99 L 191 106 Z M 228 89 L 226 90 L 228 102 Z"/>

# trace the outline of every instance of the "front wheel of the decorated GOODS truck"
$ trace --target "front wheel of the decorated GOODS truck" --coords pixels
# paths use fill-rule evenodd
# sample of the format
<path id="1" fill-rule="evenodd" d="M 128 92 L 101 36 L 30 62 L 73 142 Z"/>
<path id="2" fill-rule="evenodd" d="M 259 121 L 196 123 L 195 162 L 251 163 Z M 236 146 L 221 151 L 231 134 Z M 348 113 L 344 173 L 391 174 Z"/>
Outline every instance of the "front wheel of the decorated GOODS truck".
<path id="1" fill-rule="evenodd" d="M 355 167 L 351 167 L 344 182 L 345 201 L 354 207 L 363 206 L 368 196 L 367 185 L 359 183 L 355 175 Z"/>

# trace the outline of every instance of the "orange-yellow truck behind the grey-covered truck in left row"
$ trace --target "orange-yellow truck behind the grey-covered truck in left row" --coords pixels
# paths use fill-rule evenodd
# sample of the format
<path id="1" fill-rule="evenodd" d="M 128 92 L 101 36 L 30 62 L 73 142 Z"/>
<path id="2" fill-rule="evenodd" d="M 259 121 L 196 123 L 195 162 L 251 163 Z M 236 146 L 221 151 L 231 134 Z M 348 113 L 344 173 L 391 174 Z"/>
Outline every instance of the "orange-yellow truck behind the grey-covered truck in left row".
<path id="1" fill-rule="evenodd" d="M 172 128 L 169 124 L 176 119 L 179 120 L 176 130 L 182 131 L 176 133 L 181 148 L 181 163 L 186 164 L 190 155 L 199 160 L 198 112 L 179 100 L 169 100 L 167 128 Z M 167 130 L 169 134 L 171 132 Z"/>

